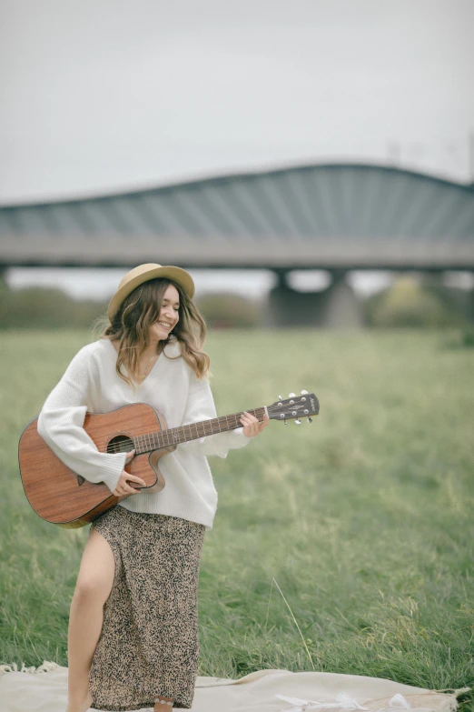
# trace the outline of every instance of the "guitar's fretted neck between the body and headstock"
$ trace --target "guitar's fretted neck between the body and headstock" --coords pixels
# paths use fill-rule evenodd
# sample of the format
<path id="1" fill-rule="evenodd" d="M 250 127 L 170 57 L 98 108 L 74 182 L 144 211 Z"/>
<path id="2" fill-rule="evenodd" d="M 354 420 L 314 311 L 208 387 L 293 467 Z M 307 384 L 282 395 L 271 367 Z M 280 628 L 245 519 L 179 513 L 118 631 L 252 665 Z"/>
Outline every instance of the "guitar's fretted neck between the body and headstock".
<path id="1" fill-rule="evenodd" d="M 248 410 L 258 420 L 263 419 L 265 406 Z M 212 420 L 202 420 L 199 423 L 190 423 L 187 426 L 170 427 L 167 430 L 158 430 L 155 433 L 148 433 L 143 436 L 133 437 L 133 446 L 136 455 L 143 455 L 153 450 L 159 450 L 162 447 L 179 445 L 187 443 L 190 440 L 197 440 L 198 437 L 216 435 L 224 433 L 227 430 L 235 430 L 237 427 L 242 427 L 241 413 L 232 413 L 231 416 L 215 417 Z"/>

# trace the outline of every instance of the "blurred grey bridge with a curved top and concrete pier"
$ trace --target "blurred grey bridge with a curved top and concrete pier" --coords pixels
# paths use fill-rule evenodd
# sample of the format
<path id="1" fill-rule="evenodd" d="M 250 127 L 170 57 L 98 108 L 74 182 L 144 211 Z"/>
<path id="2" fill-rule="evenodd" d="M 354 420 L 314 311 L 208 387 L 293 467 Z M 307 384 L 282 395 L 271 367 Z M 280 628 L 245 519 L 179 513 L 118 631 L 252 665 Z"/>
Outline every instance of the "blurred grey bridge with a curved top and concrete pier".
<path id="1" fill-rule="evenodd" d="M 328 321 L 331 304 L 351 303 L 349 270 L 474 270 L 474 189 L 393 166 L 327 164 L 0 207 L 0 267 L 143 262 L 271 269 L 271 323 L 292 321 L 300 304 L 308 323 L 311 300 Z M 292 269 L 328 270 L 332 285 L 301 296 L 288 286 Z"/>

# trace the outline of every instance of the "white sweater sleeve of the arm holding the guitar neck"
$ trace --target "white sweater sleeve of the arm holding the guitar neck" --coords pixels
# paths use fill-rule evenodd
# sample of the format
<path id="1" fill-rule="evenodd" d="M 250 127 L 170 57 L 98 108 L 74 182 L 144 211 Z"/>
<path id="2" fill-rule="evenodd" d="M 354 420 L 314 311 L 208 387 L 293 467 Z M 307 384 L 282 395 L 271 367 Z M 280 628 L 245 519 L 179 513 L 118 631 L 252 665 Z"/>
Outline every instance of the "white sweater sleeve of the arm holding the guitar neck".
<path id="1" fill-rule="evenodd" d="M 206 379 L 199 380 L 192 372 L 182 425 L 187 426 L 190 423 L 199 423 L 201 420 L 212 420 L 216 417 L 217 412 L 209 382 Z M 234 430 L 181 443 L 178 447 L 204 456 L 217 455 L 225 458 L 229 450 L 248 445 L 250 439 L 243 435 L 243 427 L 237 427 Z"/>

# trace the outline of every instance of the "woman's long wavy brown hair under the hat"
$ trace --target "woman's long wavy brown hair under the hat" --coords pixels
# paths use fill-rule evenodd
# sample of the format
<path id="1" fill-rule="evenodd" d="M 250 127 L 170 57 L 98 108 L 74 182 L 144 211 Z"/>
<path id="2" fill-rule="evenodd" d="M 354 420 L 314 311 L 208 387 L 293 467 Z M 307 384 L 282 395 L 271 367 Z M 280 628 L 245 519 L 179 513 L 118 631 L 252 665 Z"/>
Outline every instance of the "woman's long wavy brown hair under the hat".
<path id="1" fill-rule="evenodd" d="M 164 293 L 169 285 L 176 287 L 180 296 L 179 321 L 168 337 L 161 340 L 163 355 L 172 361 L 183 357 L 200 379 L 208 375 L 210 358 L 202 351 L 207 326 L 202 314 L 182 286 L 171 279 L 156 277 L 143 282 L 125 297 L 101 334 L 101 338 L 118 341 L 117 375 L 132 387 L 133 378 L 137 381 L 140 377 L 140 359 L 150 346 L 149 329 L 160 316 Z M 173 336 L 180 342 L 181 354 L 172 358 L 166 355 L 165 347 L 171 343 Z"/>

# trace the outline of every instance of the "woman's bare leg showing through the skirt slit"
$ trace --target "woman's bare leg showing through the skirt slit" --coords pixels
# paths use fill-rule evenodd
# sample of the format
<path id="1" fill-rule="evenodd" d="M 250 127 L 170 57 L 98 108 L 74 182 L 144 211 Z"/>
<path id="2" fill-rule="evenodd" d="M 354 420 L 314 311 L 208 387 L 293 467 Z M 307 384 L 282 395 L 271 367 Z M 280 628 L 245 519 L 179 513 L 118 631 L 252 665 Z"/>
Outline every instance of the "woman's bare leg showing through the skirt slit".
<path id="1" fill-rule="evenodd" d="M 92 527 L 84 548 L 69 617 L 69 700 L 66 712 L 85 712 L 92 705 L 89 672 L 102 631 L 104 603 L 114 584 L 114 573 L 114 554 L 110 544 Z"/>

